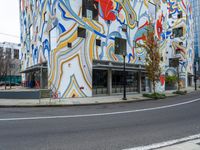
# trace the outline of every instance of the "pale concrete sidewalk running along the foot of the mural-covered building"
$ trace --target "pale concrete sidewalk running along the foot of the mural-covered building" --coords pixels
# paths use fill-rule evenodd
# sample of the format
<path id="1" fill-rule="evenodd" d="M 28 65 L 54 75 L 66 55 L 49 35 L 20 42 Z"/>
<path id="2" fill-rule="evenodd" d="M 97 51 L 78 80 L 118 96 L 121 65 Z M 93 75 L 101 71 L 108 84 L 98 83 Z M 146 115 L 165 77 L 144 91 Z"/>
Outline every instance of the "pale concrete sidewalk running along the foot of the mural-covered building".
<path id="1" fill-rule="evenodd" d="M 188 93 L 194 88 L 187 88 Z M 173 91 L 166 91 L 167 97 L 176 96 Z M 96 105 L 109 103 L 128 103 L 150 100 L 142 94 L 128 94 L 127 100 L 122 100 L 122 94 L 116 96 L 87 97 L 87 98 L 68 98 L 68 99 L 0 99 L 0 107 L 36 107 L 36 106 L 74 106 L 74 105 Z"/>

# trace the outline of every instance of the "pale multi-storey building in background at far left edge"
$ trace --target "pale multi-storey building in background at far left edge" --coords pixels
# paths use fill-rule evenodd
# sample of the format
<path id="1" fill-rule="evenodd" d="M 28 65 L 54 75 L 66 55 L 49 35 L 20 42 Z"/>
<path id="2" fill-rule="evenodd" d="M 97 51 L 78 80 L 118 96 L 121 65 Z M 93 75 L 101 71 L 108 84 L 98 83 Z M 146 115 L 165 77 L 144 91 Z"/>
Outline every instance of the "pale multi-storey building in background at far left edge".
<path id="1" fill-rule="evenodd" d="M 0 76 L 0 83 L 3 84 L 5 81 L 7 83 L 20 85 L 21 84 L 21 46 L 20 44 L 3 42 L 0 43 L 0 54 L 8 54 L 8 69 L 7 76 Z M 3 55 L 1 55 L 3 56 Z M 5 57 L 5 56 L 3 56 Z M 3 64 L 1 64 L 3 65 Z M 5 65 L 5 64 L 4 64 Z"/>

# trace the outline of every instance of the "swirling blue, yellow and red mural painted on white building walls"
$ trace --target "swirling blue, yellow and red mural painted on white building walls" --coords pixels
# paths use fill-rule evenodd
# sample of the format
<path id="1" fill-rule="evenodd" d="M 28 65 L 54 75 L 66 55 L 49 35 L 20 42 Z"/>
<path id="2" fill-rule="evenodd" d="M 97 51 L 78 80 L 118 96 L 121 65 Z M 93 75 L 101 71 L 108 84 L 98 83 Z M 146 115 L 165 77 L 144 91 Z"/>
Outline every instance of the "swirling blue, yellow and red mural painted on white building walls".
<path id="1" fill-rule="evenodd" d="M 60 97 L 92 96 L 93 60 L 122 62 L 122 56 L 114 52 L 115 37 L 119 37 L 127 40 L 127 62 L 144 64 L 145 51 L 136 48 L 135 42 L 145 38 L 146 27 L 153 20 L 163 57 L 163 75 L 157 90 L 164 90 L 164 76 L 170 69 L 168 59 L 175 51 L 180 51 L 181 71 L 193 72 L 192 14 L 188 0 L 94 1 L 98 21 L 82 16 L 83 0 L 20 0 L 22 70 L 47 62 L 48 86 Z M 152 3 L 157 8 L 155 17 L 150 15 Z M 183 17 L 177 19 L 180 11 Z M 172 29 L 178 26 L 184 27 L 184 36 L 172 38 Z M 77 36 L 78 27 L 86 29 L 85 38 Z M 100 46 L 96 39 L 101 41 Z"/>

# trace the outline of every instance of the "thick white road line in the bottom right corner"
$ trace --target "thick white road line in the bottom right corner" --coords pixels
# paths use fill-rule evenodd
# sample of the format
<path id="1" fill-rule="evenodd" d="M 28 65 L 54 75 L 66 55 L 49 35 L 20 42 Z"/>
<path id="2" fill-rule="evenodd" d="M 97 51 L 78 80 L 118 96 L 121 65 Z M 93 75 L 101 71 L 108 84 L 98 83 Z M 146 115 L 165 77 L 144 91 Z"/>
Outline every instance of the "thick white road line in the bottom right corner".
<path id="1" fill-rule="evenodd" d="M 152 150 L 152 149 L 159 149 L 159 148 L 175 145 L 175 144 L 178 144 L 178 143 L 184 143 L 184 142 L 188 142 L 188 141 L 196 140 L 196 139 L 200 139 L 200 134 L 192 135 L 192 136 L 181 138 L 181 139 L 176 139 L 176 140 L 156 143 L 156 144 L 152 144 L 152 145 L 147 145 L 147 146 L 128 148 L 128 149 L 124 149 L 124 150 Z"/>

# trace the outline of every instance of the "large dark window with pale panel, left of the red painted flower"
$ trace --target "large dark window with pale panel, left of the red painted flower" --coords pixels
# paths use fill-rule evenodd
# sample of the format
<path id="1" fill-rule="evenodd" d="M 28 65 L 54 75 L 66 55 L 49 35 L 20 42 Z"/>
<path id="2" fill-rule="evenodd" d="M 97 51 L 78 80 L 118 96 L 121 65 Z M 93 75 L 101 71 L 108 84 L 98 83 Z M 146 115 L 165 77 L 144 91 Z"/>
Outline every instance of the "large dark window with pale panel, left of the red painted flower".
<path id="1" fill-rule="evenodd" d="M 95 0 L 83 0 L 82 16 L 98 20 L 98 2 Z"/>

